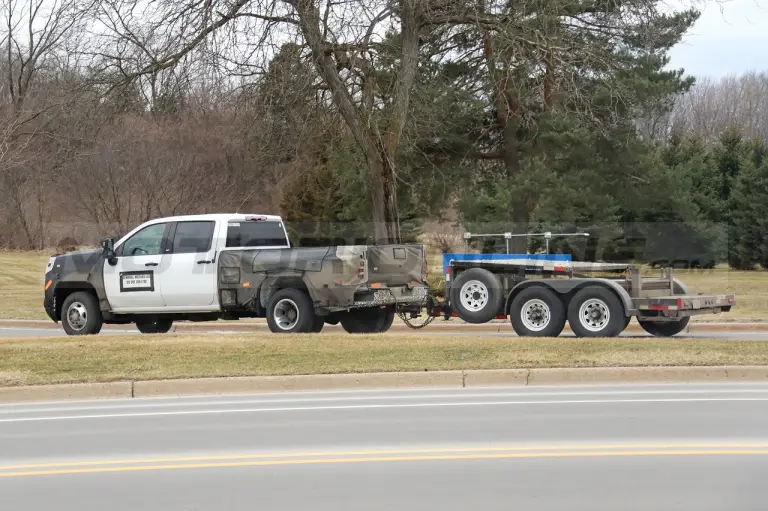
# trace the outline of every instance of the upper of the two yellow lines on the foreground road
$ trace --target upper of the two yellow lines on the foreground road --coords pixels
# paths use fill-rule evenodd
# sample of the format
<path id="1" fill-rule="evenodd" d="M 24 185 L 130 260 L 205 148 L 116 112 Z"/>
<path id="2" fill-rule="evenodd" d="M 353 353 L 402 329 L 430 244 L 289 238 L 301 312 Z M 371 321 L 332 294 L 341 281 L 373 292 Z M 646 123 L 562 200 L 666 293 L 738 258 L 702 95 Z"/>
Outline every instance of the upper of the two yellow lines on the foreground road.
<path id="1" fill-rule="evenodd" d="M 98 467 L 108 465 L 139 465 L 151 463 L 181 463 L 188 461 L 235 461 L 259 460 L 274 458 L 315 458 L 315 457 L 349 457 L 349 456 L 388 456 L 410 454 L 451 454 L 451 453 L 498 453 L 526 451 L 595 451 L 595 450 L 654 450 L 654 449 L 768 449 L 768 443 L 690 443 L 690 444 L 573 444 L 573 445 L 515 445 L 507 447 L 462 447 L 462 448 L 429 448 L 429 449 L 384 449 L 364 451 L 319 451 L 319 452 L 288 452 L 288 453 L 252 453 L 219 456 L 181 456 L 172 458 L 139 458 L 124 460 L 95 460 L 57 463 L 35 463 L 24 465 L 0 465 L 0 473 L 8 470 L 27 470 L 36 468 L 67 468 L 67 467 Z"/>

